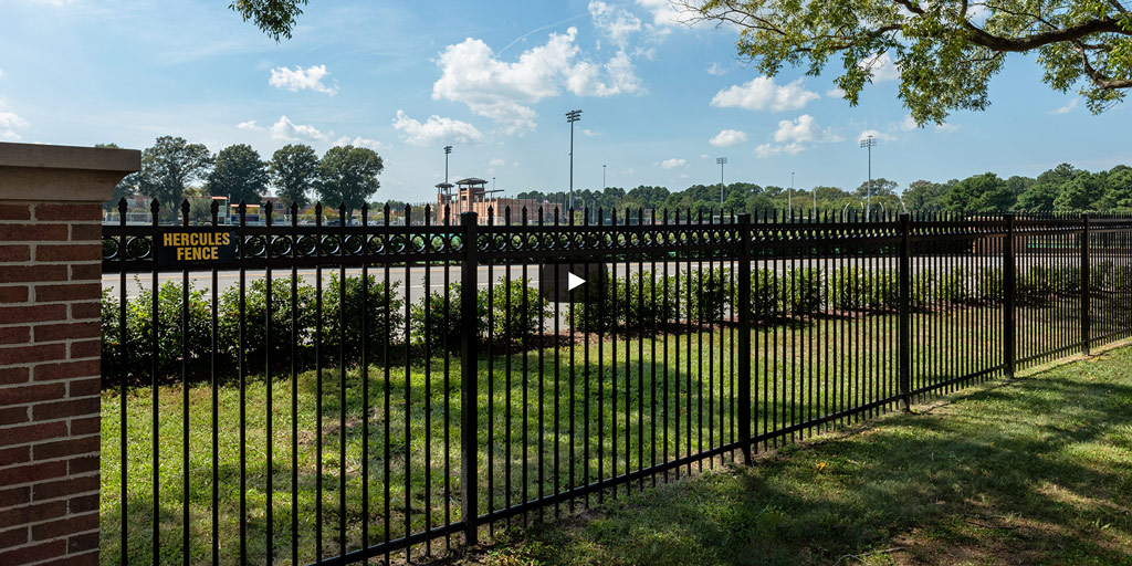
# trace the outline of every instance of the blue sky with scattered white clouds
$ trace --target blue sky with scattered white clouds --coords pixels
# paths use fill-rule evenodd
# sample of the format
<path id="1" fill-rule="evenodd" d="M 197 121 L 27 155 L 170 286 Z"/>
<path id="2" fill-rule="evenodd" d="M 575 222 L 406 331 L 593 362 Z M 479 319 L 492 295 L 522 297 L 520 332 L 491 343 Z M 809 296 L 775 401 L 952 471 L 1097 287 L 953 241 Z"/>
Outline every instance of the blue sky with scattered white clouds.
<path id="1" fill-rule="evenodd" d="M 912 128 L 892 66 L 858 106 L 835 69 L 773 80 L 735 57 L 737 34 L 674 20 L 667 0 L 372 2 L 311 0 L 276 44 L 226 0 L 0 0 L 0 140 L 144 148 L 162 135 L 216 152 L 352 143 L 385 158 L 376 198 L 431 199 L 451 177 L 560 190 L 575 131 L 575 188 L 724 178 L 760 185 L 907 186 L 1058 163 L 1132 163 L 1129 111 L 1091 115 L 1015 55 L 985 112 Z"/>

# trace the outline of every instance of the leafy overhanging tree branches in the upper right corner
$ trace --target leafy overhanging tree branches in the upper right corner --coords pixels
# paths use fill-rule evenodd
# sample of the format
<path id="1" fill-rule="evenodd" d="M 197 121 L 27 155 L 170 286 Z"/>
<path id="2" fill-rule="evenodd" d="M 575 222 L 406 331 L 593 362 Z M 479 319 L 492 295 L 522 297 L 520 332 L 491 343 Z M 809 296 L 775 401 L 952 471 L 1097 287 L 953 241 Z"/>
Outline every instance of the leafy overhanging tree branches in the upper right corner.
<path id="1" fill-rule="evenodd" d="M 738 53 L 762 75 L 789 65 L 816 76 L 839 61 L 834 83 L 852 105 L 882 66 L 895 65 L 899 97 L 919 125 L 986 109 L 987 86 L 1010 53 L 1036 52 L 1043 82 L 1055 91 L 1081 84 L 1095 113 L 1132 88 L 1132 11 L 1115 0 L 678 3 L 693 20 L 738 27 Z"/>

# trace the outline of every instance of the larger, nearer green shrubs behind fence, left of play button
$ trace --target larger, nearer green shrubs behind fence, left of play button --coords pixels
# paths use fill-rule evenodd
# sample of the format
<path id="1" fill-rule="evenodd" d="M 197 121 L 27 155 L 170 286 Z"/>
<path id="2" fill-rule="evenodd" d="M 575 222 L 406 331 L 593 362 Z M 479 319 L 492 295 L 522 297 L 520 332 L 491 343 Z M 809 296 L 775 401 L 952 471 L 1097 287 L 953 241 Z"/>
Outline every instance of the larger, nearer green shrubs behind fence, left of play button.
<path id="1" fill-rule="evenodd" d="M 190 380 L 206 379 L 211 377 L 214 362 L 217 376 L 226 379 L 238 375 L 241 353 L 245 371 L 254 375 L 267 368 L 268 353 L 273 370 L 289 372 L 292 363 L 300 371 L 314 368 L 319 358 L 326 367 L 338 366 L 343 357 L 348 366 L 358 365 L 363 344 L 368 359 L 375 363 L 403 360 L 430 350 L 460 349 L 462 291 L 458 283 L 449 285 L 447 297 L 443 292 L 430 292 L 424 300 L 409 306 L 408 312 L 400 282 L 391 284 L 386 293 L 385 284 L 370 275 L 365 309 L 362 278 L 346 277 L 343 283 L 340 285 L 336 274 L 331 274 L 319 300 L 315 286 L 299 282 L 292 301 L 291 280 L 272 280 L 271 309 L 267 308 L 265 280 L 248 285 L 242 305 L 239 289 L 228 289 L 216 301 L 215 346 L 211 298 L 191 283 L 188 301 L 183 300 L 183 288 L 175 282 L 166 282 L 157 289 L 156 325 L 151 290 L 143 290 L 127 300 L 125 334 L 119 318 L 121 303 L 104 291 L 103 379 L 108 385 L 119 384 L 123 378 L 147 383 L 156 370 L 158 381 L 178 381 L 182 369 L 187 370 Z M 509 338 L 526 344 L 538 334 L 539 315 L 550 316 L 550 308 L 528 285 L 524 278 L 512 281 L 509 286 L 500 280 L 490 290 L 478 292 L 475 325 L 481 336 L 489 336 L 490 331 L 497 343 Z M 182 332 L 182 307 L 188 312 L 187 333 Z M 511 316 L 505 316 L 508 311 Z M 363 318 L 368 324 L 365 337 Z M 408 343 L 405 336 L 409 336 Z M 156 368 L 149 362 L 151 350 L 157 353 Z M 187 355 L 182 355 L 182 351 Z"/>

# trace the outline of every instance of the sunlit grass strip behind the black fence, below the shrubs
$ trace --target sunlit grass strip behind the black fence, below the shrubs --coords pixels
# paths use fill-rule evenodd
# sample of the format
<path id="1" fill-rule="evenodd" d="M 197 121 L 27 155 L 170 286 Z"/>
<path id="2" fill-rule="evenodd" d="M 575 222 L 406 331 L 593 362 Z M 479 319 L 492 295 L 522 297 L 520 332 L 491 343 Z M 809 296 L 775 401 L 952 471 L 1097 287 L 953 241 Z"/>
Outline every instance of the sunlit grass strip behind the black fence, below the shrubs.
<path id="1" fill-rule="evenodd" d="M 998 312 L 988 307 L 921 315 L 919 323 L 912 325 L 914 343 L 940 348 L 915 350 L 914 385 L 945 380 L 997 363 L 1001 348 L 993 344 L 1001 341 L 995 329 L 1001 324 L 988 325 L 987 320 L 996 320 Z M 1021 324 L 1023 328 L 1037 328 L 1049 316 L 1061 315 L 1053 309 L 1029 311 Z M 614 466 L 617 473 L 624 473 L 734 438 L 736 336 L 731 328 L 691 337 L 618 336 L 604 342 L 577 342 L 573 351 L 563 348 L 494 353 L 490 363 L 486 359 L 489 352 L 481 352 L 480 511 L 537 497 L 540 489 L 551 495 L 609 477 Z M 1020 341 L 1030 340 L 1027 336 L 1048 340 L 1038 332 L 1021 332 Z M 894 316 L 817 319 L 754 331 L 754 431 L 777 430 L 893 394 L 895 341 Z M 947 355 L 941 355 L 944 344 Z M 438 526 L 446 516 L 458 518 L 458 357 L 434 359 L 428 365 L 417 361 L 408 371 L 404 366 L 389 368 L 388 378 L 384 367 L 371 367 L 368 375 L 369 403 L 363 398 L 359 369 L 345 372 L 345 395 L 340 388 L 343 376 L 333 368 L 324 370 L 321 379 L 315 371 L 303 372 L 297 380 L 276 378 L 271 384 L 261 377 L 249 378 L 242 391 L 238 384 L 222 385 L 215 392 L 207 384 L 190 386 L 187 469 L 182 454 L 185 391 L 180 386 L 160 387 L 156 484 L 161 490 L 161 561 L 181 561 L 186 501 L 191 561 L 211 560 L 213 473 L 218 478 L 216 535 L 220 558 L 225 564 L 239 561 L 241 541 L 247 546 L 249 561 L 266 559 L 268 498 L 273 548 L 281 564 L 290 563 L 292 544 L 299 548 L 300 563 L 312 561 L 319 543 L 324 556 L 336 555 L 343 547 L 360 548 L 367 521 L 369 541 L 374 543 L 385 538 L 386 529 L 391 538 L 397 538 Z M 135 388 L 125 400 L 126 550 L 130 561 L 148 561 L 153 548 L 153 394 L 151 388 Z M 117 391 L 104 393 L 101 503 L 104 564 L 119 563 L 122 551 L 119 542 L 121 405 L 122 397 Z M 852 421 L 842 419 L 825 428 Z M 363 435 L 366 423 L 368 443 Z M 386 426 L 388 443 L 384 441 Z M 344 457 L 340 449 L 343 440 Z M 271 495 L 268 445 L 273 462 Z M 242 455 L 241 446 L 246 447 Z M 368 451 L 365 456 L 363 448 Z M 446 473 L 446 464 L 452 473 Z M 242 470 L 246 473 L 241 487 Z M 182 488 L 186 477 L 187 496 Z M 345 509 L 340 505 L 343 483 Z M 368 489 L 368 499 L 363 489 Z M 627 487 L 620 489 L 621 494 L 628 491 Z M 241 495 L 246 498 L 242 513 Z M 292 497 L 297 505 L 292 504 Z M 363 513 L 362 500 L 369 501 L 368 514 Z M 298 520 L 298 538 L 292 538 L 292 513 Z M 345 540 L 338 537 L 342 517 L 346 523 Z M 324 531 L 320 542 L 319 524 Z M 241 532 L 241 526 L 246 531 Z M 443 541 L 434 542 L 432 550 L 439 551 L 443 546 Z"/>

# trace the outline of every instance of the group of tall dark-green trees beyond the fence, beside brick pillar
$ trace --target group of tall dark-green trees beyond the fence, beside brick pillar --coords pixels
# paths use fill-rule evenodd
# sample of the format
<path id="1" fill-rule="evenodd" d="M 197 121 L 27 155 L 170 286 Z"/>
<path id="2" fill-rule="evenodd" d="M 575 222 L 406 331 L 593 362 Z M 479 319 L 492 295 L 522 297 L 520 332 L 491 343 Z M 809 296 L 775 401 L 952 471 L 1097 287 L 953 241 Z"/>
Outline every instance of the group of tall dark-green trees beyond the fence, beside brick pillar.
<path id="1" fill-rule="evenodd" d="M 170 220 L 186 197 L 220 196 L 233 204 L 259 204 L 268 188 L 274 188 L 280 205 L 286 208 L 292 204 L 305 207 L 315 195 L 323 203 L 342 204 L 353 212 L 380 188 L 377 175 L 384 169 L 381 156 L 366 147 L 335 146 L 319 158 L 310 146 L 291 144 L 264 161 L 247 144 L 231 145 L 214 155 L 204 144 L 162 136 L 142 152 L 142 170 L 122 179 L 104 206 L 114 209 L 122 197 L 145 195 L 157 199 L 162 217 Z M 198 200 L 192 206 L 195 214 L 207 216 L 207 203 Z"/>

